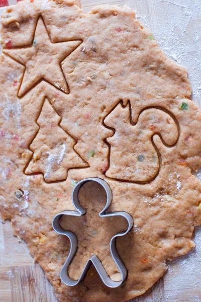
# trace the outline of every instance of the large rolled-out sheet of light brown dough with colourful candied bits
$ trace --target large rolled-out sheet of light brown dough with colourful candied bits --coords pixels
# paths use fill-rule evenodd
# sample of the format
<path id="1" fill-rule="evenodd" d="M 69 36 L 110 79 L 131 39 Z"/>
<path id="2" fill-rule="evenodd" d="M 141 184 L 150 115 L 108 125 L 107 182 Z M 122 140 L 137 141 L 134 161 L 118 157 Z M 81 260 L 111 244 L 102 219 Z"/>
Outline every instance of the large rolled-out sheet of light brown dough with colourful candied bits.
<path id="1" fill-rule="evenodd" d="M 168 260 L 194 247 L 201 224 L 201 184 L 192 173 L 201 166 L 201 111 L 190 100 L 186 69 L 128 7 L 84 14 L 73 0 L 25 0 L 8 7 L 1 23 L 2 219 L 11 218 L 60 302 L 143 294 Z M 74 210 L 73 186 L 90 177 L 110 185 L 110 212 L 134 219 L 117 239 L 128 278 L 115 289 L 92 267 L 75 287 L 59 277 L 70 244 L 53 231 L 52 218 Z M 87 214 L 61 221 L 78 238 L 69 274 L 77 279 L 95 253 L 119 280 L 108 248 L 125 220 L 97 216 L 106 202 L 97 184 L 86 183 L 79 198 Z"/>

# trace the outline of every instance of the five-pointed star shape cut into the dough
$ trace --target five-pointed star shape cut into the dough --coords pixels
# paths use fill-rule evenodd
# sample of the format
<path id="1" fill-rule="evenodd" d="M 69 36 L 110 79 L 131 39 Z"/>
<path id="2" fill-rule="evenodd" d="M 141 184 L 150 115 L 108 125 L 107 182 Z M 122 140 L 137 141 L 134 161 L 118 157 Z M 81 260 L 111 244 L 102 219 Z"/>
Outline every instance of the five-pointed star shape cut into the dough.
<path id="1" fill-rule="evenodd" d="M 81 42 L 77 40 L 52 43 L 43 19 L 39 18 L 31 46 L 4 49 L 6 54 L 25 66 L 19 97 L 41 80 L 46 80 L 63 92 L 69 93 L 60 64 Z"/>

